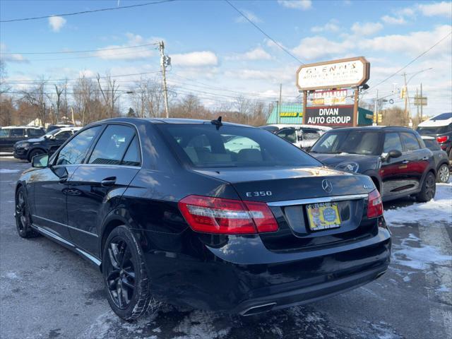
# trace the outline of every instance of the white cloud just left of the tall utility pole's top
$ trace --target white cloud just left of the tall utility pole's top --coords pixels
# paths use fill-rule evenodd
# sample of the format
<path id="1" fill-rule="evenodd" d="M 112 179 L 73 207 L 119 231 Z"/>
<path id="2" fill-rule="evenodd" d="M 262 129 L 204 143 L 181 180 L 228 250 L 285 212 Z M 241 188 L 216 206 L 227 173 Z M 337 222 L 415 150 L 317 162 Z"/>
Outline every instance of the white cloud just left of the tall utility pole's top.
<path id="1" fill-rule="evenodd" d="M 125 48 L 130 46 L 137 46 L 141 44 L 151 44 L 158 40 L 156 37 L 150 37 L 149 39 L 143 38 L 141 35 L 135 35 L 133 33 L 126 33 L 128 41 L 125 44 L 110 44 L 109 46 L 102 47 L 100 50 L 94 53 L 96 57 L 105 60 L 139 60 L 152 57 L 152 46 Z M 161 40 L 161 39 L 160 39 Z"/>

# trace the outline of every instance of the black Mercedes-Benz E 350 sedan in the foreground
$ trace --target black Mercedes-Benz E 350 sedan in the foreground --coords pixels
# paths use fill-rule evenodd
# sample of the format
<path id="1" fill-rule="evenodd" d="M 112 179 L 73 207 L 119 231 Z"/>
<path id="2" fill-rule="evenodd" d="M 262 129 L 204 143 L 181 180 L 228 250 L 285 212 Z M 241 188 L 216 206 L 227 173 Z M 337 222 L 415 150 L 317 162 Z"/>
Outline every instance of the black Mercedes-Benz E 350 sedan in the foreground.
<path id="1" fill-rule="evenodd" d="M 242 315 L 313 302 L 378 278 L 391 252 L 369 177 L 221 119 L 86 126 L 33 158 L 16 222 L 99 266 L 122 319 L 154 300 Z"/>

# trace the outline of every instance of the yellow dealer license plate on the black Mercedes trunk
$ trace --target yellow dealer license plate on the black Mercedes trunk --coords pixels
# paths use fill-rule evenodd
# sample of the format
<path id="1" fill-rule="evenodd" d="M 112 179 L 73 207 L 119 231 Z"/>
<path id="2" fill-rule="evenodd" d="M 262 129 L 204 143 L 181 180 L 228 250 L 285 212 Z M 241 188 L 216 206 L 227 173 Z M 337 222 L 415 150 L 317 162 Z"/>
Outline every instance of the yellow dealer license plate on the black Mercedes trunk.
<path id="1" fill-rule="evenodd" d="M 336 203 L 313 203 L 306 206 L 309 227 L 312 231 L 340 227 L 338 205 Z"/>

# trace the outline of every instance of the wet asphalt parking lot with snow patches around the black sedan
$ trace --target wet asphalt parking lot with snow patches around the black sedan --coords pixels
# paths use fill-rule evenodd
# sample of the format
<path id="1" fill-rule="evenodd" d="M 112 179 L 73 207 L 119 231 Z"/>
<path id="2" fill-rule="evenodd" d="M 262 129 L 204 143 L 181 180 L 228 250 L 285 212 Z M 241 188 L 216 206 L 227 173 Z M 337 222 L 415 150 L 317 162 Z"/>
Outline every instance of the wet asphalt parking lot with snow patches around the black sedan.
<path id="1" fill-rule="evenodd" d="M 45 237 L 18 237 L 14 185 L 29 166 L 0 157 L 1 338 L 452 338 L 451 182 L 429 203 L 385 204 L 392 263 L 364 287 L 261 316 L 160 305 L 128 323 L 88 261 Z"/>

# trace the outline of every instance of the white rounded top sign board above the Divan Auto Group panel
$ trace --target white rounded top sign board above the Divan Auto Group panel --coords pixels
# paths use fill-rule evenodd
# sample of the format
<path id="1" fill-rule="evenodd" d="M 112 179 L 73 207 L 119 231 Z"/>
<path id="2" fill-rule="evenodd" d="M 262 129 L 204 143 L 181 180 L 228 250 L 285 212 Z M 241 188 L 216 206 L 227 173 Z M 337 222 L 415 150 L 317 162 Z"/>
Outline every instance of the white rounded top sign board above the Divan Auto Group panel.
<path id="1" fill-rule="evenodd" d="M 364 57 L 305 64 L 297 70 L 299 90 L 347 88 L 369 80 L 370 63 Z"/>

